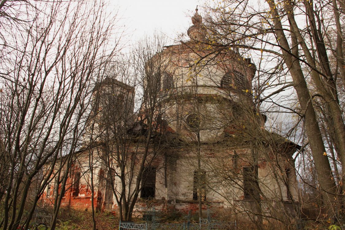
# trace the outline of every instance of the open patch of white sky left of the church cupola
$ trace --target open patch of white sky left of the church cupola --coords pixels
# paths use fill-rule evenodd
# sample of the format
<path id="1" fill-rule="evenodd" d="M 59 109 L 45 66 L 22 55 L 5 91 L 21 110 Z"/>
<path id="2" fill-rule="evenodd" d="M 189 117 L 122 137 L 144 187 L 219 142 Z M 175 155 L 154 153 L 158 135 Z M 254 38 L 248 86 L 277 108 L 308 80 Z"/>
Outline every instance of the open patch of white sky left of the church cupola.
<path id="1" fill-rule="evenodd" d="M 109 0 L 114 10 L 119 10 L 120 23 L 125 25 L 130 41 L 135 42 L 155 30 L 169 38 L 186 33 L 197 5 L 203 0 Z M 203 16 L 203 10 L 199 13 Z"/>

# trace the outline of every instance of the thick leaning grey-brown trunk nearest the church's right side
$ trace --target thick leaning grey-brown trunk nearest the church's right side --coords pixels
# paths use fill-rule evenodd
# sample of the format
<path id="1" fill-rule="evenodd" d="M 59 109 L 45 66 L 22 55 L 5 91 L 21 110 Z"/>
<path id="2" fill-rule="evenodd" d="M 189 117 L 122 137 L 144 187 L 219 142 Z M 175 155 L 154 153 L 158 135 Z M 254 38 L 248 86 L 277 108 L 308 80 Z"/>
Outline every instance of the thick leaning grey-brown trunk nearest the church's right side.
<path id="1" fill-rule="evenodd" d="M 326 152 L 323 144 L 321 132 L 317 123 L 315 110 L 313 108 L 312 98 L 309 93 L 299 60 L 290 53 L 290 47 L 284 34 L 283 26 L 280 22 L 280 16 L 274 1 L 267 1 L 274 16 L 275 33 L 281 50 L 284 54 L 284 61 L 289 68 L 289 72 L 294 82 L 294 88 L 297 92 L 298 101 L 304 113 L 304 123 L 308 134 L 309 146 L 312 150 L 315 169 L 318 181 L 323 194 L 323 204 L 326 207 L 328 218 L 333 218 L 334 212 L 332 204 L 335 201 L 336 184 L 332 179 L 332 170 L 328 158 L 324 156 Z"/>

